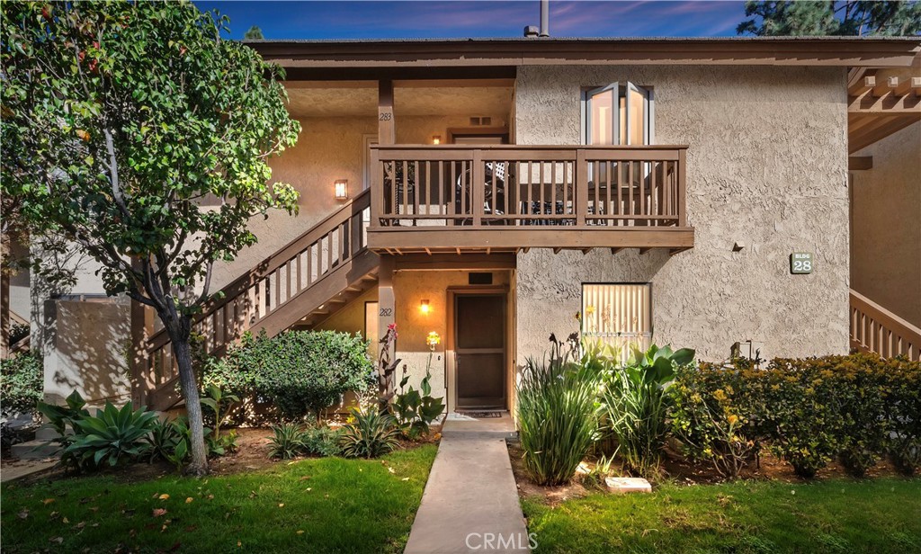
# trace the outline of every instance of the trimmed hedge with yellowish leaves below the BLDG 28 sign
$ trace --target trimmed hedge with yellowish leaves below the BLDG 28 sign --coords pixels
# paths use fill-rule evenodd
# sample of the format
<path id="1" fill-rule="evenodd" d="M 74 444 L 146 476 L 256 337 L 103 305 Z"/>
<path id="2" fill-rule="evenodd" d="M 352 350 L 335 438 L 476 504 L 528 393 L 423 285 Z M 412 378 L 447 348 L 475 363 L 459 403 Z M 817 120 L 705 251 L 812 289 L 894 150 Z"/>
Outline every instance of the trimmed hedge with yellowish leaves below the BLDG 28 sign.
<path id="1" fill-rule="evenodd" d="M 799 476 L 834 458 L 862 476 L 882 456 L 921 463 L 921 364 L 875 354 L 683 368 L 670 387 L 684 453 L 738 475 L 764 444 Z"/>

